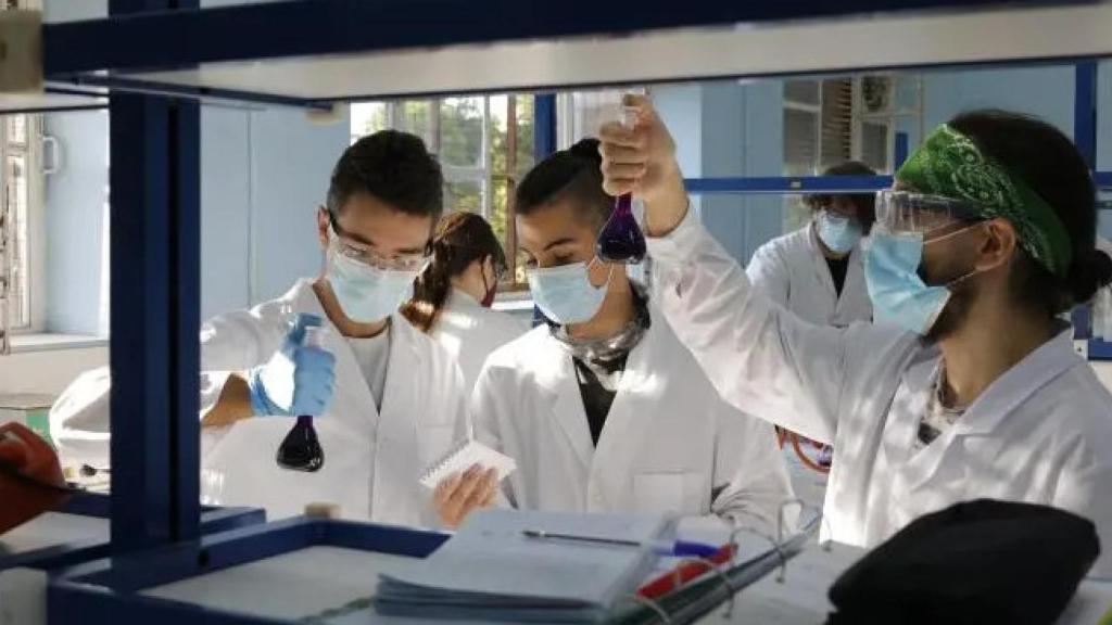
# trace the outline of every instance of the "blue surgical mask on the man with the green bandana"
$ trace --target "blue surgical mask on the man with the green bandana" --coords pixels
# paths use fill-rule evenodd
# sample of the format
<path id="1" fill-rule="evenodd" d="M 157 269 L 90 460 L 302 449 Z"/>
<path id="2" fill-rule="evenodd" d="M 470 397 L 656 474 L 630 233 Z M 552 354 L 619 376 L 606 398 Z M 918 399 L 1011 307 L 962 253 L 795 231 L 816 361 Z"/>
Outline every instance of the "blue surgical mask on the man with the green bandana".
<path id="1" fill-rule="evenodd" d="M 937 240 L 941 238 L 929 242 Z M 921 232 L 893 235 L 875 230 L 864 245 L 865 284 L 874 320 L 895 324 L 920 336 L 926 335 L 939 320 L 950 301 L 950 287 L 976 274 L 971 271 L 946 285 L 929 286 L 919 276 L 923 245 Z"/>

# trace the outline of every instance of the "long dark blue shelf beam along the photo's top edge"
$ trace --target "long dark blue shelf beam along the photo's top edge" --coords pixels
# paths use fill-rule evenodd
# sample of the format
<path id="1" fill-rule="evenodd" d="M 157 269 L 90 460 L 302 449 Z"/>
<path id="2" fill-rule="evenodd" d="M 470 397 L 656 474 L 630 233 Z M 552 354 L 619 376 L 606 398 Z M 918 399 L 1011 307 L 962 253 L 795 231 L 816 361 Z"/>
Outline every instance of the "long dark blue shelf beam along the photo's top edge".
<path id="1" fill-rule="evenodd" d="M 47 76 L 60 77 L 102 69 L 172 69 L 211 61 L 999 4 L 999 0 L 689 0 L 682 6 L 665 0 L 487 0 L 476 10 L 470 0 L 290 0 L 47 24 L 43 57 Z"/>

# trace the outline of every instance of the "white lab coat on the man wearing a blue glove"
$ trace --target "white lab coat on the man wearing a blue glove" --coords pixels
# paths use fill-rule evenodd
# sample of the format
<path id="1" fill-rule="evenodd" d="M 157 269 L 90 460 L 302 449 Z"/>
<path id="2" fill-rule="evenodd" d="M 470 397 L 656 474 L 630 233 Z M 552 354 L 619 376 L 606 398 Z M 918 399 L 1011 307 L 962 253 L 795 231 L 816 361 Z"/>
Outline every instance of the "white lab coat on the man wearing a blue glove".
<path id="1" fill-rule="evenodd" d="M 217 316 L 201 328 L 201 413 L 219 398 L 228 373 L 269 360 L 298 312 L 325 320 L 322 346 L 336 356 L 332 404 L 315 421 L 324 467 L 299 473 L 275 463 L 294 418 L 244 419 L 221 431 L 206 430 L 202 499 L 265 507 L 271 519 L 301 514 L 306 504 L 324 502 L 339 504 L 346 518 L 438 525 L 431 492 L 417 479 L 455 439 L 466 436 L 467 399 L 453 358 L 400 315 L 391 318 L 381 413 L 347 339 L 328 321 L 310 280 L 299 280 L 286 295 L 251 310 Z M 62 435 L 63 448 L 80 444 L 82 433 L 107 433 L 107 400 L 90 397 L 83 408 L 71 403 L 64 413 L 56 409 L 52 431 Z M 107 458 L 107 436 L 105 444 Z"/>

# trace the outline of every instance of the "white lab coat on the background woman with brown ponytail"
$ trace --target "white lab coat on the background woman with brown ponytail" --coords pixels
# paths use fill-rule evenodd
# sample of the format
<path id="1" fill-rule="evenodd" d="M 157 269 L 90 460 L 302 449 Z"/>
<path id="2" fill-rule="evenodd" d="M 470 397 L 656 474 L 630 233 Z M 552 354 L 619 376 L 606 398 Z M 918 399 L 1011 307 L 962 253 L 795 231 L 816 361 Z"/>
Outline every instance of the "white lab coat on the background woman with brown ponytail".
<path id="1" fill-rule="evenodd" d="M 433 327 L 433 339 L 459 364 L 464 388 L 470 393 L 487 356 L 528 329 L 524 321 L 508 312 L 486 308 L 470 295 L 454 288 Z"/>

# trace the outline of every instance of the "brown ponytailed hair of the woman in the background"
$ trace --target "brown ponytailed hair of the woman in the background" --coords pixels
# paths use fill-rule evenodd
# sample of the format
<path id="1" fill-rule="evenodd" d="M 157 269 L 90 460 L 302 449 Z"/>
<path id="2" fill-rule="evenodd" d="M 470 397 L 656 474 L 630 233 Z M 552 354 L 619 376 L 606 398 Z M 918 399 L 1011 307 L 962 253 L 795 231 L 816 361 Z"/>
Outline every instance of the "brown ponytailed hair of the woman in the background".
<path id="1" fill-rule="evenodd" d="M 448 300 L 451 278 L 486 258 L 496 271 L 505 270 L 506 254 L 486 219 L 474 212 L 445 215 L 433 234 L 433 260 L 414 282 L 414 297 L 401 314 L 421 331 L 431 331 Z"/>

